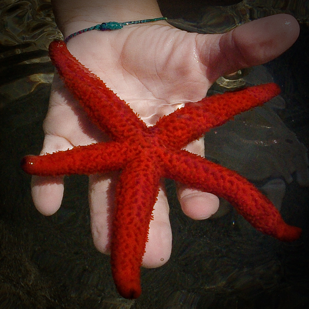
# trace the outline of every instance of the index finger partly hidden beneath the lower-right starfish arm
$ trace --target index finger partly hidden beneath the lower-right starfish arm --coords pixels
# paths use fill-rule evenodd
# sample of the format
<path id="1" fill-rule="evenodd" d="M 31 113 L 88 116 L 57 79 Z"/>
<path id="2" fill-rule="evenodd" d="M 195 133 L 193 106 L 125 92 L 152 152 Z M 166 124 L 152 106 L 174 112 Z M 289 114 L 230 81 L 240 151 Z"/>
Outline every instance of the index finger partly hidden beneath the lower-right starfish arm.
<path id="1" fill-rule="evenodd" d="M 204 157 L 204 138 L 188 144 L 186 150 Z M 215 195 L 188 188 L 180 183 L 176 183 L 176 187 L 181 209 L 188 217 L 202 220 L 209 218 L 218 210 L 219 199 Z"/>

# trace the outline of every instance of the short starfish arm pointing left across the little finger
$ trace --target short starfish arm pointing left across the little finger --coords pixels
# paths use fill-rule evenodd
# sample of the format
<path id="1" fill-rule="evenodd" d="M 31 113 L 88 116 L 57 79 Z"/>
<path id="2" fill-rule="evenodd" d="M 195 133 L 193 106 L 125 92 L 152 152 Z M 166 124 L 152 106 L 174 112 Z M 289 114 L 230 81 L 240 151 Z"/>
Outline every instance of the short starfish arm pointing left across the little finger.
<path id="1" fill-rule="evenodd" d="M 22 169 L 31 175 L 60 176 L 96 174 L 120 169 L 125 163 L 126 147 L 117 142 L 77 146 L 46 155 L 28 155 Z"/>

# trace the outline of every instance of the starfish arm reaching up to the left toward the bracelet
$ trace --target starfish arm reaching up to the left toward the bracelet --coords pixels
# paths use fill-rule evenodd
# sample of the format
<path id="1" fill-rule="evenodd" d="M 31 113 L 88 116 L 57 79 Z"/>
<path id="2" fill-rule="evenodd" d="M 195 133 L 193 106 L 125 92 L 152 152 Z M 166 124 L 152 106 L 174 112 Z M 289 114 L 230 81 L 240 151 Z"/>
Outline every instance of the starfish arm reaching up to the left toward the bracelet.
<path id="1" fill-rule="evenodd" d="M 125 101 L 71 55 L 63 41 L 51 42 L 49 55 L 66 88 L 92 121 L 111 138 L 125 139 L 147 128 Z"/>

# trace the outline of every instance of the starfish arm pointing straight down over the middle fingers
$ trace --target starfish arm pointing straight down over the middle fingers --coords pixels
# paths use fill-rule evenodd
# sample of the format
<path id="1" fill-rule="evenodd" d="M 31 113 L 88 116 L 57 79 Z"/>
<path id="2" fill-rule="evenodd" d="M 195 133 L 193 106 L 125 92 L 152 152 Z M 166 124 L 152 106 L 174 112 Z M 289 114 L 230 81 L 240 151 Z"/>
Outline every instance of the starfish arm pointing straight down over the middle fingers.
<path id="1" fill-rule="evenodd" d="M 130 163 L 116 188 L 111 265 L 117 290 L 125 298 L 141 294 L 140 266 L 160 180 L 160 169 L 152 159 L 143 154 Z"/>

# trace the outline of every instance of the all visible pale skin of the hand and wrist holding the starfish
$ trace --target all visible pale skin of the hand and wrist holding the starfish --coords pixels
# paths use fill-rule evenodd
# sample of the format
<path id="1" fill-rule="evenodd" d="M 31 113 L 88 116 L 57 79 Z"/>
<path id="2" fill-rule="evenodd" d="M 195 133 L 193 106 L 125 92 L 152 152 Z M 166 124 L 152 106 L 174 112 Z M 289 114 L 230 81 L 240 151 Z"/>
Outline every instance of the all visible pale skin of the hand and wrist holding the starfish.
<path id="1" fill-rule="evenodd" d="M 52 0 L 56 22 L 64 37 L 108 21 L 162 17 L 155 0 Z M 205 97 L 220 76 L 265 63 L 297 39 L 298 22 L 278 14 L 242 25 L 226 34 L 202 35 L 173 28 L 165 21 L 125 26 L 111 32 L 91 31 L 72 38 L 69 51 L 125 100 L 147 125 L 189 101 Z M 41 154 L 106 140 L 85 116 L 78 102 L 55 74 L 49 111 L 44 121 Z M 186 147 L 204 154 L 203 140 Z M 109 252 L 110 218 L 116 173 L 89 177 L 91 231 L 96 248 Z M 32 197 L 44 215 L 54 214 L 63 196 L 62 177 L 32 178 Z M 193 219 L 209 218 L 218 197 L 177 184 L 182 210 Z M 171 253 L 169 206 L 164 186 L 154 207 L 144 267 L 158 267 Z"/>

